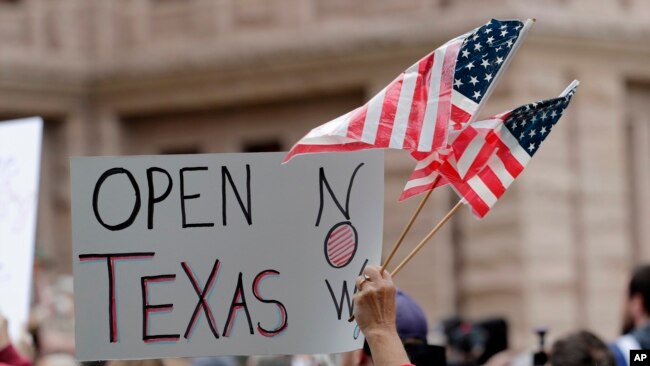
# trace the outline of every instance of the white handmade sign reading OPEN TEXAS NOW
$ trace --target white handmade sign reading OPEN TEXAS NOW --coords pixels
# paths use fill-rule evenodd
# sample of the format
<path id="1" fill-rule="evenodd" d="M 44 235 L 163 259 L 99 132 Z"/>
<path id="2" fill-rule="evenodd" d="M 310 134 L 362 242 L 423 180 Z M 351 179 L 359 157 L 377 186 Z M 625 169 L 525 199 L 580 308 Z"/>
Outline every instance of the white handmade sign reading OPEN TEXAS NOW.
<path id="1" fill-rule="evenodd" d="M 80 360 L 358 349 L 383 154 L 72 159 Z"/>

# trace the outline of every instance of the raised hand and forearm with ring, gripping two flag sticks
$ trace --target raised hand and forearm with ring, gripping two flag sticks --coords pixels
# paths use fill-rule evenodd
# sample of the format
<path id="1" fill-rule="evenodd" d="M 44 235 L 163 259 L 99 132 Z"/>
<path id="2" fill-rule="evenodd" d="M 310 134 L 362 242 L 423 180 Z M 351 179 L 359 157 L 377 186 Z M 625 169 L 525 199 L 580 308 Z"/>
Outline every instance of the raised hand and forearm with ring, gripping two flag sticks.
<path id="1" fill-rule="evenodd" d="M 376 366 L 410 365 L 397 334 L 396 288 L 390 274 L 379 266 L 368 266 L 357 280 L 354 315 L 366 337 Z"/>

